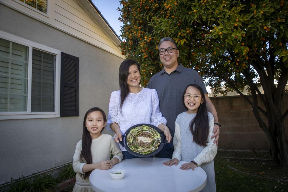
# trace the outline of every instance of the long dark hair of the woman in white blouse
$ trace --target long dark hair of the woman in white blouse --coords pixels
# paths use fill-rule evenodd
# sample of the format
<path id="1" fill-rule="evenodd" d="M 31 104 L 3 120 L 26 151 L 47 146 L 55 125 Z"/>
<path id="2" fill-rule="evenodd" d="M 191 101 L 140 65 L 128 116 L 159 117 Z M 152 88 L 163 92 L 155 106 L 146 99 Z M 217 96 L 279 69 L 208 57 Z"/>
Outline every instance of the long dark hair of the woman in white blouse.
<path id="1" fill-rule="evenodd" d="M 129 86 L 127 84 L 127 78 L 128 78 L 128 72 L 129 72 L 129 67 L 131 65 L 136 65 L 138 70 L 139 70 L 139 74 L 141 76 L 140 73 L 140 65 L 133 59 L 126 59 L 125 61 L 123 61 L 119 67 L 119 87 L 120 87 L 120 109 L 122 109 L 122 105 L 125 101 L 125 98 L 128 96 L 129 94 Z"/>

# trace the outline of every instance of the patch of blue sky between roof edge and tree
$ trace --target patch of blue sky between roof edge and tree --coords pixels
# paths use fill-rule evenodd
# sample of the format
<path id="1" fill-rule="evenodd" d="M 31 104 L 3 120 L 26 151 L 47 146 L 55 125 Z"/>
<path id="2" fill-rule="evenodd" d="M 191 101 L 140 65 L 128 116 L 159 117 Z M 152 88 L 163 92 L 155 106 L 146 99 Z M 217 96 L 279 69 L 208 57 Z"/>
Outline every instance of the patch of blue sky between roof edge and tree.
<path id="1" fill-rule="evenodd" d="M 117 7 L 120 7 L 120 0 L 92 0 L 109 25 L 114 29 L 118 36 L 120 36 L 122 22 L 118 20 L 120 12 Z"/>

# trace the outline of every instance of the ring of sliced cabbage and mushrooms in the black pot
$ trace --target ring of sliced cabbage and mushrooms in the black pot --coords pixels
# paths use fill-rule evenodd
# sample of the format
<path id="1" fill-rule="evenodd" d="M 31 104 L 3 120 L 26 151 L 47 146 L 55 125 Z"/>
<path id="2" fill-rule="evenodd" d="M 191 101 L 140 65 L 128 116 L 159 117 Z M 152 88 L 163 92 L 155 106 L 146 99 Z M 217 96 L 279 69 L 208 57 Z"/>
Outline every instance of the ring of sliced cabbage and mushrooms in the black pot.
<path id="1" fill-rule="evenodd" d="M 148 146 L 139 145 L 138 139 L 141 137 L 140 136 L 141 132 L 151 134 L 151 137 L 150 137 L 151 142 L 149 142 L 150 144 Z M 129 133 L 126 135 L 126 141 L 131 151 L 138 153 L 138 154 L 146 155 L 158 149 L 161 143 L 161 135 L 156 129 L 149 127 L 147 125 L 142 125 L 142 126 L 138 126 L 138 127 L 131 129 Z"/>

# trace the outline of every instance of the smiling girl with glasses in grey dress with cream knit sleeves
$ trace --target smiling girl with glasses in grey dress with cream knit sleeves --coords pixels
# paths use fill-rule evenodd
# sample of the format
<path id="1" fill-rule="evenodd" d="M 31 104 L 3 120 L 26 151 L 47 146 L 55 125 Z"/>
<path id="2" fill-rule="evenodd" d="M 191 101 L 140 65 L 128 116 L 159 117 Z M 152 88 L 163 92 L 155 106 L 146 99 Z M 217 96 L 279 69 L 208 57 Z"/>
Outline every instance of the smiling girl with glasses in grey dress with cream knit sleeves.
<path id="1" fill-rule="evenodd" d="M 172 160 L 163 164 L 177 165 L 180 160 L 190 163 L 182 164 L 180 169 L 194 170 L 200 166 L 207 174 L 207 184 L 202 191 L 216 191 L 214 157 L 217 145 L 214 138 L 214 118 L 207 112 L 204 92 L 199 85 L 190 84 L 183 93 L 182 102 L 187 109 L 180 113 L 175 122 L 174 152 Z"/>

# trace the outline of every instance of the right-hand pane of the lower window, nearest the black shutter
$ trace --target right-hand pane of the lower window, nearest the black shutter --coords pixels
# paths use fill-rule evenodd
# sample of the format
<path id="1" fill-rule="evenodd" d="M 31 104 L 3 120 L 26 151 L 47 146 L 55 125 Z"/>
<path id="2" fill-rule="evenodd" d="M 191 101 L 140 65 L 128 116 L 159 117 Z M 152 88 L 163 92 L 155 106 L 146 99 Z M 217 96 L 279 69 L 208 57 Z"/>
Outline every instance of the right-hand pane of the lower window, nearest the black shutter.
<path id="1" fill-rule="evenodd" d="M 31 111 L 55 111 L 55 55 L 33 49 Z"/>

